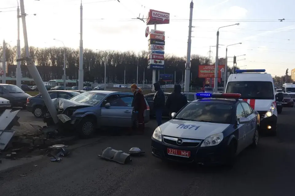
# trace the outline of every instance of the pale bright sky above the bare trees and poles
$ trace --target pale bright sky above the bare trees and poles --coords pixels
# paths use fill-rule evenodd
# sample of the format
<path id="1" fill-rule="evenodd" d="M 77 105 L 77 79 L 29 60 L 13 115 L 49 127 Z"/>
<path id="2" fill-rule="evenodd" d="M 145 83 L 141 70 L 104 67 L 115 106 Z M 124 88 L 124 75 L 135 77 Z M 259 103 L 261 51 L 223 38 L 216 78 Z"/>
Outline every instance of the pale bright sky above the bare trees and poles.
<path id="1" fill-rule="evenodd" d="M 17 0 L 0 0 L 0 39 L 16 45 Z M 36 47 L 63 46 L 78 48 L 80 39 L 81 0 L 24 0 L 29 45 Z M 165 53 L 185 56 L 191 0 L 82 0 L 84 48 L 100 50 L 147 50 L 144 36 L 146 24 L 136 18 L 146 18 L 148 10 L 170 13 L 170 24 L 157 25 L 165 31 Z M 246 69 L 266 69 L 274 75 L 284 75 L 295 68 L 295 2 L 285 0 L 198 0 L 194 1 L 192 54 L 215 58 L 216 31 L 220 29 L 219 57 L 237 57 L 238 66 Z M 36 14 L 34 16 L 33 14 Z M 278 19 L 285 18 L 279 22 Z M 150 25 L 150 29 L 154 26 Z M 21 46 L 23 47 L 22 25 Z M 2 43 L 1 43 L 2 45 Z M 224 45 L 224 46 L 223 46 Z M 229 58 L 228 61 L 232 61 Z M 228 63 L 232 66 L 232 63 Z"/>

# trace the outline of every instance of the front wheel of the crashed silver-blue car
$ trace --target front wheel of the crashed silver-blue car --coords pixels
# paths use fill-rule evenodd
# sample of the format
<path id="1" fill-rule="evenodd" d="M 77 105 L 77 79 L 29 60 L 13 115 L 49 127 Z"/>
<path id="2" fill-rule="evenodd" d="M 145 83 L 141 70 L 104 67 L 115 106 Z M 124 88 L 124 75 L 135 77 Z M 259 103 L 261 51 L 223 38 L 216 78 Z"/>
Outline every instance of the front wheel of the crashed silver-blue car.
<path id="1" fill-rule="evenodd" d="M 90 138 L 96 131 L 96 121 L 93 117 L 85 116 L 78 126 L 78 133 L 83 138 Z"/>

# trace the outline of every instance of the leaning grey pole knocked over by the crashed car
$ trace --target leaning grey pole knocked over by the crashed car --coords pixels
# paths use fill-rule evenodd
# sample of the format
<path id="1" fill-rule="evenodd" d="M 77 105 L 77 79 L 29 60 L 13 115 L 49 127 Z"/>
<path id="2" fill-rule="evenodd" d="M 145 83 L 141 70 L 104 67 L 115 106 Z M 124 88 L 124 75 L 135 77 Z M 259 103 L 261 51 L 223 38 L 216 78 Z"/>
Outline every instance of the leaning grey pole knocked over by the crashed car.
<path id="1" fill-rule="evenodd" d="M 48 91 L 45 88 L 45 85 L 43 84 L 42 78 L 41 78 L 35 64 L 32 62 L 31 57 L 30 57 L 27 28 L 26 28 L 26 13 L 25 13 L 24 0 L 20 0 L 20 6 L 21 6 L 22 30 L 23 30 L 23 34 L 24 34 L 26 58 L 18 59 L 18 61 L 26 60 L 29 73 L 33 77 L 39 92 L 42 94 L 42 98 L 45 102 L 46 107 L 48 108 L 48 111 L 53 119 L 53 122 L 58 123 L 57 111 L 53 105 L 53 102 L 49 96 Z"/>

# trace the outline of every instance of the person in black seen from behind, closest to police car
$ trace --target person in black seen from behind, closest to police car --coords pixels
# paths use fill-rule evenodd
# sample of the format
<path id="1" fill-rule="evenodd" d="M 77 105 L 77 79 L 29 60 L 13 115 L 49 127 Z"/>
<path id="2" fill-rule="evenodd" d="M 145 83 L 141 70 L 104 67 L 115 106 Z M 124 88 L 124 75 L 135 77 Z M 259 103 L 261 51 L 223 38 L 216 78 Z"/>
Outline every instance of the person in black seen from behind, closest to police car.
<path id="1" fill-rule="evenodd" d="M 178 112 L 187 104 L 187 97 L 181 94 L 181 86 L 179 84 L 174 85 L 174 91 L 168 96 L 166 100 L 166 108 L 169 111 L 169 116 L 171 118 L 171 113 Z"/>

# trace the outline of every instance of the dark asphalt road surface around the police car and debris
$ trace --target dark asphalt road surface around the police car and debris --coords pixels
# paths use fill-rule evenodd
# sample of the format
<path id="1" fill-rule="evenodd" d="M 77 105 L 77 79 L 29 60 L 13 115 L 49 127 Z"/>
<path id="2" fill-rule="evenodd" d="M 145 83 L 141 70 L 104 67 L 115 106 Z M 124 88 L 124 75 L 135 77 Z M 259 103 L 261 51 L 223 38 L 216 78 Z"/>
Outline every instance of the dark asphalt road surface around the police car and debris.
<path id="1" fill-rule="evenodd" d="M 0 173 L 1 195 L 202 195 L 293 196 L 295 191 L 295 108 L 283 108 L 276 137 L 246 149 L 232 169 L 167 164 L 150 153 L 154 121 L 145 135 L 101 136 L 60 163 L 47 157 Z M 21 117 L 22 118 L 22 117 Z M 105 147 L 146 151 L 131 164 L 101 160 Z M 37 165 L 36 167 L 34 165 Z M 1 164 L 0 164 L 1 167 Z M 20 177 L 26 174 L 25 177 Z"/>

